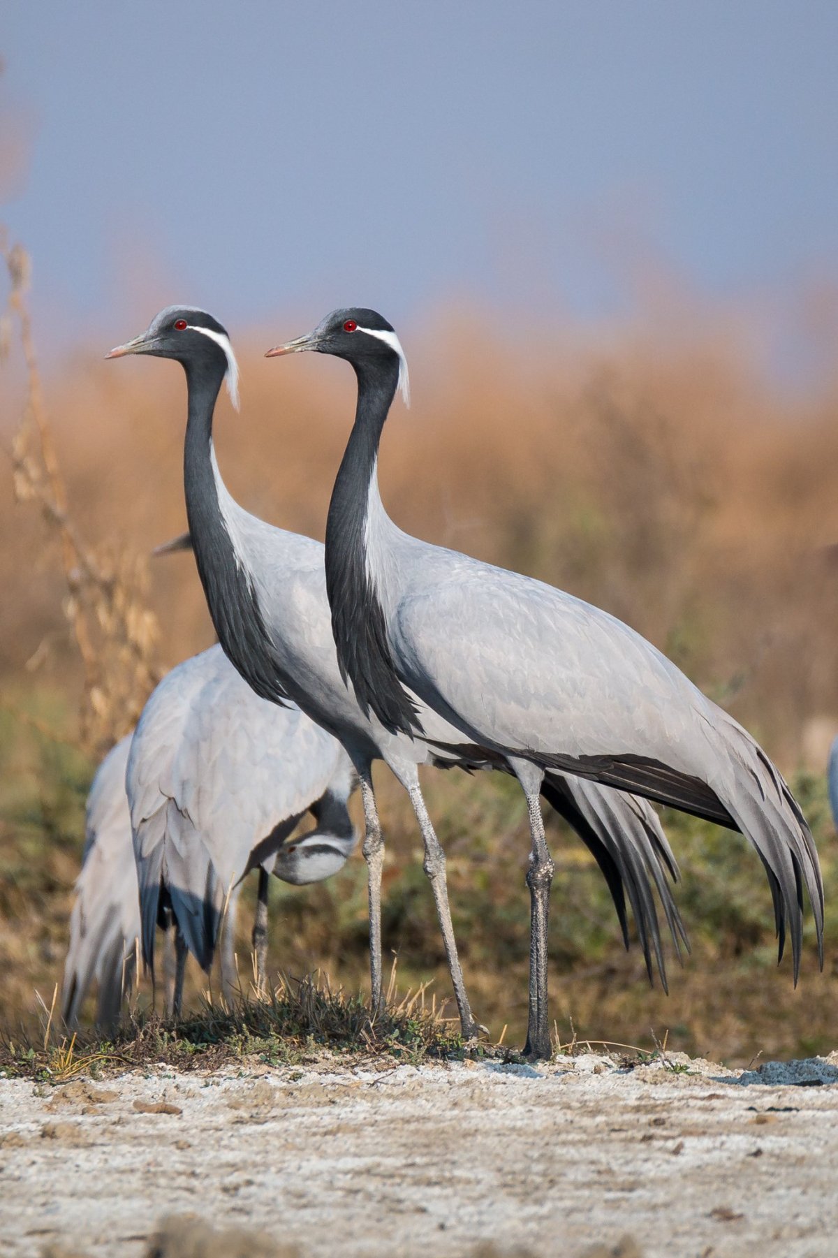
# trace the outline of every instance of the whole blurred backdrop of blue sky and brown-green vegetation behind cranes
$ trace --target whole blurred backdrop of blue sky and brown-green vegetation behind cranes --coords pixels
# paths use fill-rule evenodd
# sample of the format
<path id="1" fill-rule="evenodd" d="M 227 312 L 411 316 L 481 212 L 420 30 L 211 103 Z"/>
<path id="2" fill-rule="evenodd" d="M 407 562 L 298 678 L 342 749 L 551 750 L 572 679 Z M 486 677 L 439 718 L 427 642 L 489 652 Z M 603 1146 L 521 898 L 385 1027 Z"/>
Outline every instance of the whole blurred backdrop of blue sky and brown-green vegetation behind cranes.
<path id="1" fill-rule="evenodd" d="M 210 309 L 239 352 L 242 414 L 224 400 L 216 423 L 232 491 L 316 537 L 354 381 L 262 353 L 335 306 L 390 318 L 414 399 L 381 459 L 399 523 L 561 585 L 671 655 L 794 779 L 829 901 L 837 39 L 815 0 L 9 0 L 1 1024 L 34 1016 L 60 972 L 93 767 L 154 681 L 214 640 L 191 557 L 147 559 L 185 527 L 182 375 L 102 361 L 172 302 Z M 379 780 L 388 947 L 444 996 L 418 835 Z M 521 801 L 493 779 L 427 786 L 477 1013 L 515 1039 Z M 731 1060 L 833 1048 L 834 933 L 825 974 L 810 946 L 794 993 L 756 857 L 667 825 L 693 938 L 668 999 L 554 832 L 560 1034 L 648 1043 L 654 1027 Z M 360 859 L 274 896 L 276 966 L 362 980 Z"/>

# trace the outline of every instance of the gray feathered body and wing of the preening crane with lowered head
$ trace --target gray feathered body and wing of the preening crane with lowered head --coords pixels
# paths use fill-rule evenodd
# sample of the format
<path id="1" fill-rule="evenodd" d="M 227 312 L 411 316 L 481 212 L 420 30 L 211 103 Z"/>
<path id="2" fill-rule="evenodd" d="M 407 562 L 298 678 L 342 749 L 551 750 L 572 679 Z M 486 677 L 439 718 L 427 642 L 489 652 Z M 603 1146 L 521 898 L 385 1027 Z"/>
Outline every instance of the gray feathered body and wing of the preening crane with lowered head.
<path id="1" fill-rule="evenodd" d="M 190 951 L 209 969 L 224 903 L 254 849 L 320 799 L 344 756 L 299 708 L 259 698 L 220 647 L 164 678 L 127 772 L 150 965 L 164 886 Z"/>

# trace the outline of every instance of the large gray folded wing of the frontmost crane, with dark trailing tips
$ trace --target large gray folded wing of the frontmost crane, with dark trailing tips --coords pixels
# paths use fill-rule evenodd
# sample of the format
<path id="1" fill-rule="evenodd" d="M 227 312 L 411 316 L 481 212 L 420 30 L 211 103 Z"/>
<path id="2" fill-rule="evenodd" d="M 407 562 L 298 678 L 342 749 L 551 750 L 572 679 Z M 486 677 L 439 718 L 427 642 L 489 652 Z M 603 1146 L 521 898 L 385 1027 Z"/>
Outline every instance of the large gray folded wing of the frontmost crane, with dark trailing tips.
<path id="1" fill-rule="evenodd" d="M 389 634 L 400 679 L 483 746 L 739 829 L 756 848 L 796 979 L 803 886 L 823 949 L 809 828 L 765 752 L 628 625 L 438 547 L 408 547 Z"/>

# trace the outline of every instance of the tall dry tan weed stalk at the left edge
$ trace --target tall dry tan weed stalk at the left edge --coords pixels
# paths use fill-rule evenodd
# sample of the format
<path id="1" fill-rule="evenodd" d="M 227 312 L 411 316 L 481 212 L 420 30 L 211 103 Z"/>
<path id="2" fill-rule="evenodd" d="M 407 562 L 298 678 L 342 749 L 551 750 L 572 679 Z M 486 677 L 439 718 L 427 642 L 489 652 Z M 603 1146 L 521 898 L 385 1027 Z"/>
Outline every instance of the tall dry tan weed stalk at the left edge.
<path id="1" fill-rule="evenodd" d="M 26 369 L 25 400 L 11 445 L 18 502 L 40 507 L 48 531 L 57 537 L 67 582 L 62 610 L 84 665 L 78 743 L 101 755 L 137 721 L 150 691 L 160 679 L 155 662 L 157 619 L 146 603 L 148 565 L 116 542 L 89 546 L 68 506 L 64 477 L 47 419 L 26 304 L 30 259 L 16 244 L 0 240 L 9 272 L 9 297 L 0 335 L 0 352 L 9 352 L 11 331 Z M 49 654 L 44 639 L 29 660 L 39 667 Z"/>

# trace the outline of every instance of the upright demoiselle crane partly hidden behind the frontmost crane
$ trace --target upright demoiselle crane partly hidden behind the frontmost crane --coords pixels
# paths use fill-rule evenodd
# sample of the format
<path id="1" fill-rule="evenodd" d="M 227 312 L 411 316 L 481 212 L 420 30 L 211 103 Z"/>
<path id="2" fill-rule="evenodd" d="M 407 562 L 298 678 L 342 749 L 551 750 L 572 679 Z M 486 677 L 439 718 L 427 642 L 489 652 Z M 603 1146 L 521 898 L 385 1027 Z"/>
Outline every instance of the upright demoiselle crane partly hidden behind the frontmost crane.
<path id="1" fill-rule="evenodd" d="M 213 448 L 213 418 L 225 379 L 234 404 L 238 403 L 238 366 L 225 328 L 205 311 L 167 307 L 147 331 L 107 356 L 133 353 L 174 359 L 186 374 L 186 513 L 198 571 L 224 652 L 258 694 L 274 703 L 296 702 L 338 738 L 359 774 L 366 827 L 364 855 L 369 869 L 374 1006 L 383 1003 L 384 840 L 371 777 L 372 762 L 380 759 L 408 791 L 419 821 L 424 869 L 433 888 L 463 1034 L 471 1038 L 481 1028 L 466 994 L 448 907 L 444 853 L 422 796 L 418 766 L 505 771 L 513 766 L 488 747 L 463 746 L 459 728 L 432 708 L 423 710 L 425 736 L 415 737 L 394 730 L 391 721 L 381 722 L 369 712 L 362 697 L 359 703 L 347 689 L 332 639 L 322 543 L 252 516 L 235 502 L 221 479 Z M 676 947 L 679 938 L 686 942 L 686 935 L 666 881 L 666 873 L 677 876 L 676 866 L 654 810 L 608 786 L 570 779 L 560 767 L 546 771 L 541 789 L 599 863 L 627 941 L 624 896 L 628 894 L 649 975 L 654 954 L 666 984 L 652 884 L 658 889 Z"/>

